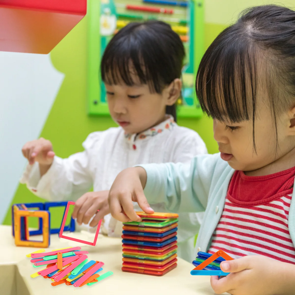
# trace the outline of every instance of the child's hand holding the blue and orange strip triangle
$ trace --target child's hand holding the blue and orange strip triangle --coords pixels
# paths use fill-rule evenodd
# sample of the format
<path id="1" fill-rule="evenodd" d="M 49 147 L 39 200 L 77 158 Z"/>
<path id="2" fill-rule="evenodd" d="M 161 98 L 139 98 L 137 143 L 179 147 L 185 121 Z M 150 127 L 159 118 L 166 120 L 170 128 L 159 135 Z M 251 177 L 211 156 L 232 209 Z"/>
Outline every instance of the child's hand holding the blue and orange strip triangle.
<path id="1" fill-rule="evenodd" d="M 232 295 L 293 294 L 289 293 L 288 290 L 291 288 L 294 291 L 294 283 L 293 287 L 290 287 L 290 283 L 291 281 L 294 282 L 294 278 L 288 282 L 284 272 L 290 266 L 294 267 L 289 263 L 283 263 L 260 255 L 249 255 L 235 260 L 227 260 L 220 264 L 220 268 L 224 272 L 230 272 L 230 274 L 220 279 L 218 279 L 218 276 L 212 276 L 211 286 L 217 294 L 224 292 Z M 287 270 L 288 272 L 290 271 Z M 289 273 L 287 276 L 289 276 Z"/>

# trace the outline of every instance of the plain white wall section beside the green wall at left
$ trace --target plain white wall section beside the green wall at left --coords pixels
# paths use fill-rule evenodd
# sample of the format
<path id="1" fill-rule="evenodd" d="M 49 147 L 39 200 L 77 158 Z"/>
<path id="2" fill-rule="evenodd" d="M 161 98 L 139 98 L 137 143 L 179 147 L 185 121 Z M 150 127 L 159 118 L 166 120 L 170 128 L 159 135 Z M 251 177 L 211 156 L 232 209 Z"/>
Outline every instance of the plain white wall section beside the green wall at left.
<path id="1" fill-rule="evenodd" d="M 0 52 L 0 224 L 26 165 L 21 148 L 40 135 L 63 78 L 49 55 Z"/>

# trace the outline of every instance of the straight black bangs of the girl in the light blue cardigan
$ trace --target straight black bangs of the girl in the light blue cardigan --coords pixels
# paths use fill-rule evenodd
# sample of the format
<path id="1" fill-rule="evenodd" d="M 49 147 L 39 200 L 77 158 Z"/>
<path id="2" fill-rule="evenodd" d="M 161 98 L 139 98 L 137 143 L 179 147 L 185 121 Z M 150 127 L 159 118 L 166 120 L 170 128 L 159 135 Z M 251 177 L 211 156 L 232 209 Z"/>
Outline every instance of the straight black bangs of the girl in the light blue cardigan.
<path id="1" fill-rule="evenodd" d="M 204 113 L 213 119 L 238 123 L 255 114 L 256 62 L 245 38 L 225 29 L 210 45 L 199 65 L 196 94 Z M 252 52 L 249 54 L 249 52 Z"/>

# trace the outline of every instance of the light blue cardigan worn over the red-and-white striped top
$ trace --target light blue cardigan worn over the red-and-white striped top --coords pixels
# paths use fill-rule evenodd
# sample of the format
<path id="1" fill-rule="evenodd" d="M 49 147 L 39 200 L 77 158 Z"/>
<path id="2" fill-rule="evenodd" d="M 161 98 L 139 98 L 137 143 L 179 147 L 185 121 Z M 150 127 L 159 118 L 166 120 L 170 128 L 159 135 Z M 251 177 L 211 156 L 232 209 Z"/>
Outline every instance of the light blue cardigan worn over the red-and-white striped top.
<path id="1" fill-rule="evenodd" d="M 224 208 L 234 169 L 220 158 L 220 153 L 196 156 L 188 164 L 164 163 L 140 166 L 147 172 L 144 193 L 152 208 L 152 204 L 163 202 L 170 212 L 205 210 L 194 257 L 198 251 L 207 252 Z M 288 224 L 295 245 L 294 191 Z"/>

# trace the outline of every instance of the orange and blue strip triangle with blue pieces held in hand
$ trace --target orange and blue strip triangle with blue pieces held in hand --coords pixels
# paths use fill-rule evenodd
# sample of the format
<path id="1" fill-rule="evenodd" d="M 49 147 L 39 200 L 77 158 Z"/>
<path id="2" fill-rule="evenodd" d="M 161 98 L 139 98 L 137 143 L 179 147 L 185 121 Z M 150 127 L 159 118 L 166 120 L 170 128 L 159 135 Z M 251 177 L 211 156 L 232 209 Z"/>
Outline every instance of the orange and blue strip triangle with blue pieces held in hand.
<path id="1" fill-rule="evenodd" d="M 198 252 L 193 265 L 196 266 L 192 271 L 192 276 L 227 276 L 229 273 L 224 273 L 220 269 L 220 263 L 224 260 L 233 260 L 223 250 L 218 250 L 213 255 L 205 252 Z"/>

